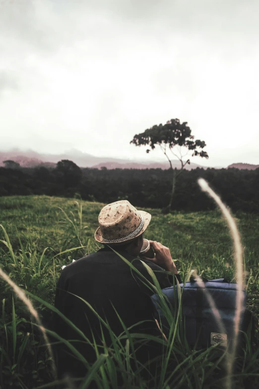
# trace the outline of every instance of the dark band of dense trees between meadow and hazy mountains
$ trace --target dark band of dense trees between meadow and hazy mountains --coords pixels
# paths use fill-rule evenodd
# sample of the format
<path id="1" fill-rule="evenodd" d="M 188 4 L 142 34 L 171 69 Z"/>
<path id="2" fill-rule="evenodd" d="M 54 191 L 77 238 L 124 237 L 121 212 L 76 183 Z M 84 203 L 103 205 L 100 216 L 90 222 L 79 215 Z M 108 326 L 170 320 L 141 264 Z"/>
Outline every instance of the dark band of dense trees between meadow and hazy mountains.
<path id="1" fill-rule="evenodd" d="M 200 191 L 199 177 L 207 180 L 233 211 L 259 213 L 259 168 L 184 170 L 177 181 L 173 209 L 215 208 Z M 45 194 L 106 204 L 128 199 L 137 207 L 164 208 L 169 203 L 171 186 L 172 172 L 162 169 L 80 169 L 71 161 L 58 162 L 54 169 L 0 167 L 0 196 Z"/>

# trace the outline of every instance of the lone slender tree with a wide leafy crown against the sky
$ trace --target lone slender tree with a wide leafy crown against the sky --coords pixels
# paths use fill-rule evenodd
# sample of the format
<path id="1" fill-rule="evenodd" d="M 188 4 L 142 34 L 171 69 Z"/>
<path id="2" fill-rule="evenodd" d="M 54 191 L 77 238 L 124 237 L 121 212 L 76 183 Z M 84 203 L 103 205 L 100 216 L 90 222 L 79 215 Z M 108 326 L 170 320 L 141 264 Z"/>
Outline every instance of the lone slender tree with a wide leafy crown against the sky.
<path id="1" fill-rule="evenodd" d="M 207 153 L 202 150 L 206 146 L 205 142 L 200 140 L 194 141 L 194 136 L 191 135 L 191 132 L 192 130 L 187 126 L 187 122 L 183 122 L 181 124 L 179 119 L 171 119 L 164 125 L 154 125 L 141 134 L 135 135 L 130 142 L 135 146 L 149 146 L 151 150 L 154 150 L 156 146 L 159 146 L 164 155 L 167 157 L 172 171 L 172 191 L 169 205 L 166 207 L 168 212 L 172 207 L 176 180 L 182 173 L 185 166 L 190 164 L 190 159 L 184 160 L 184 158 L 190 154 L 192 156 L 208 158 Z M 183 155 L 182 151 L 184 148 L 186 153 Z M 147 149 L 146 153 L 149 152 L 150 149 Z M 171 154 L 180 160 L 180 169 L 173 168 Z"/>

